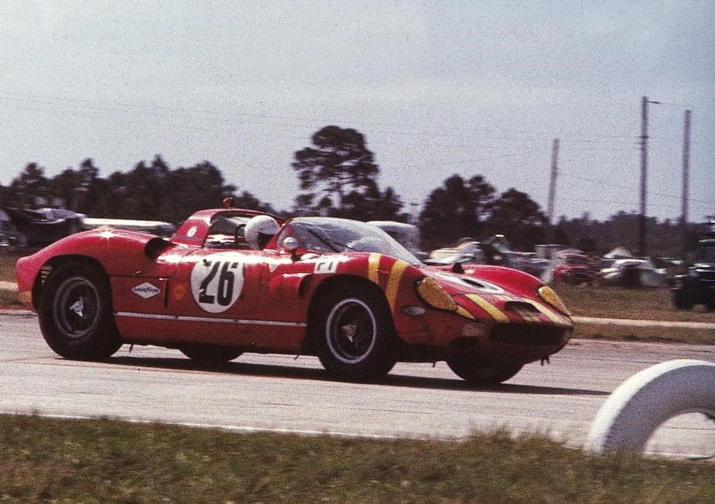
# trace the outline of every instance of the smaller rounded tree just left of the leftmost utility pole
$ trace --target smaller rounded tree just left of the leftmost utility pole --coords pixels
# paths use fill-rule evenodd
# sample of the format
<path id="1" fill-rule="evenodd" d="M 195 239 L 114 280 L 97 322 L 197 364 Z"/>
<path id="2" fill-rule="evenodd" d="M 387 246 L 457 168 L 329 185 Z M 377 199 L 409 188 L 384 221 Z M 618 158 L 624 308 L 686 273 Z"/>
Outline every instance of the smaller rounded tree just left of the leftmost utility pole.
<path id="1" fill-rule="evenodd" d="M 531 251 L 546 239 L 548 219 L 527 193 L 511 188 L 494 201 L 491 233 L 503 234 L 519 251 Z"/>

